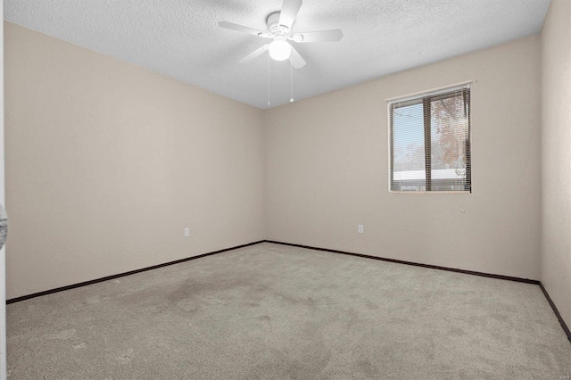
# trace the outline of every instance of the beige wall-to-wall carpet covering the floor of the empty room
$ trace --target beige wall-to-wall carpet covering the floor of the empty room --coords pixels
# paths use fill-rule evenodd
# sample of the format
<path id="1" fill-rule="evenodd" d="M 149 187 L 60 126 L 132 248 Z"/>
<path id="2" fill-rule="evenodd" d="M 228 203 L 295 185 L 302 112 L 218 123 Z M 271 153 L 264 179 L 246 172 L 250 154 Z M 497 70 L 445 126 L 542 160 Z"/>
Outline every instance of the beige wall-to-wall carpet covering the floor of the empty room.
<path id="1" fill-rule="evenodd" d="M 555 379 L 539 286 L 277 244 L 8 305 L 10 379 Z"/>

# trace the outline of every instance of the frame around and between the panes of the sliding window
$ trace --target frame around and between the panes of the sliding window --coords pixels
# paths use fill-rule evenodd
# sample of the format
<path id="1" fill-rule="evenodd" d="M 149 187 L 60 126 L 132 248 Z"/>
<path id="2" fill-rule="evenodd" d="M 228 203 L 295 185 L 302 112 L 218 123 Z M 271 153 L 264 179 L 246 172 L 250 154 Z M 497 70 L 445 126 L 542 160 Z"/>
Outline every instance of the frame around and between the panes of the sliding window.
<path id="1" fill-rule="evenodd" d="M 389 193 L 392 194 L 472 194 L 472 118 L 471 118 L 471 81 L 470 82 L 463 82 L 457 85 L 452 85 L 448 87 L 440 87 L 438 89 L 416 93 L 413 95 L 401 96 L 398 98 L 393 98 L 389 100 L 385 100 L 387 103 L 387 112 L 388 112 L 388 148 L 389 148 Z M 462 92 L 462 96 L 464 96 L 465 100 L 464 103 L 468 105 L 468 141 L 465 144 L 467 146 L 466 149 L 466 181 L 465 181 L 465 189 L 464 190 L 432 190 L 431 187 L 433 186 L 432 181 L 432 154 L 427 154 L 426 152 L 432 152 L 431 145 L 432 145 L 432 136 L 431 136 L 431 104 L 434 101 L 448 99 Z M 423 115 L 424 115 L 424 143 L 425 143 L 425 179 L 419 179 L 418 181 L 422 182 L 424 186 L 426 186 L 426 190 L 418 190 L 418 191 L 407 191 L 407 190 L 393 190 L 393 168 L 394 168 L 394 158 L 393 158 L 393 109 L 394 104 L 400 103 L 400 107 L 411 106 L 414 104 L 423 104 Z M 442 178 L 439 179 L 439 182 L 445 181 L 454 181 L 454 179 L 446 179 Z M 410 180 L 414 181 L 414 180 Z M 420 183 L 419 182 L 419 183 Z M 412 183 L 412 182 L 411 182 Z M 418 185 L 418 184 L 417 184 Z"/>

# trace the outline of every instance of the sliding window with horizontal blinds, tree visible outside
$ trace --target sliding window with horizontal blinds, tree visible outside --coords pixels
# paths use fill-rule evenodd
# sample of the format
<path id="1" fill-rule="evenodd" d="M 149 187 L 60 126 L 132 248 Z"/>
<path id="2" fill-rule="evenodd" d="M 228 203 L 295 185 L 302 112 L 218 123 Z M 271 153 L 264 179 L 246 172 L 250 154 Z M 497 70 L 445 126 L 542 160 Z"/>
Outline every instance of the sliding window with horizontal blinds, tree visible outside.
<path id="1" fill-rule="evenodd" d="M 471 192 L 470 87 L 389 103 L 393 192 Z"/>

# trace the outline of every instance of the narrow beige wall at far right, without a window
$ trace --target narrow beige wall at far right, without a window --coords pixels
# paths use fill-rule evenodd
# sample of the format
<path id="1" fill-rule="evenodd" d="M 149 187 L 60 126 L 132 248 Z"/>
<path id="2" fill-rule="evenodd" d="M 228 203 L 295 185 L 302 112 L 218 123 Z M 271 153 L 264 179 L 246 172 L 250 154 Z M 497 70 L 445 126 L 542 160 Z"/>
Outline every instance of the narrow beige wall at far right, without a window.
<path id="1" fill-rule="evenodd" d="M 571 326 L 571 2 L 542 29 L 542 283 Z"/>

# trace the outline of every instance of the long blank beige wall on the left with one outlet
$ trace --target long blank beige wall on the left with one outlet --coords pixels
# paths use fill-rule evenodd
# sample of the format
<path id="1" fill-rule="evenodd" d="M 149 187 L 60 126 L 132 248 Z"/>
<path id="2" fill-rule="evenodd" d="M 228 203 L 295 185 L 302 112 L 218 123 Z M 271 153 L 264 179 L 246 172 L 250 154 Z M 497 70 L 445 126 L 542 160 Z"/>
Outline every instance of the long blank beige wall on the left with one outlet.
<path id="1" fill-rule="evenodd" d="M 4 28 L 8 298 L 263 239 L 260 110 Z"/>

